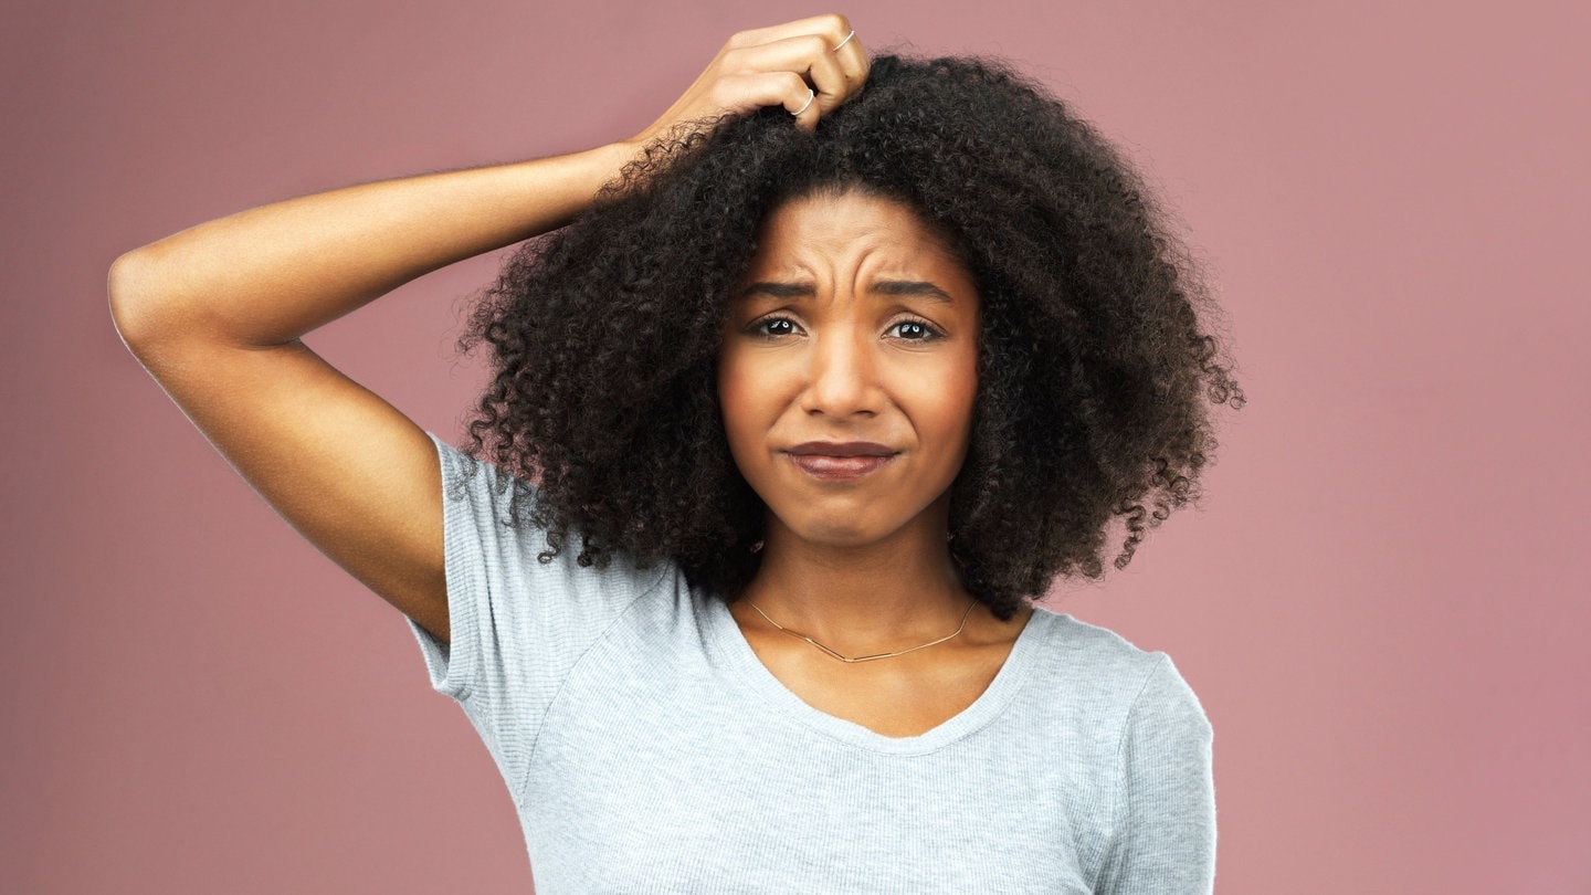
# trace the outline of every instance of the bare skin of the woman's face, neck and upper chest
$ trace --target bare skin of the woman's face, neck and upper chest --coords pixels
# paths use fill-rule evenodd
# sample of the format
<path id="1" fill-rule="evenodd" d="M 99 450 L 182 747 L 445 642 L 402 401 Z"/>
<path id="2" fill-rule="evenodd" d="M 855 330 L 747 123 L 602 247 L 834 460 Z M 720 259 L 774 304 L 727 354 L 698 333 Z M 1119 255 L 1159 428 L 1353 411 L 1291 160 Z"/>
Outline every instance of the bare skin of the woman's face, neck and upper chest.
<path id="1" fill-rule="evenodd" d="M 977 395 L 977 288 L 912 209 L 858 191 L 784 204 L 757 245 L 725 319 L 719 400 L 768 516 L 762 569 L 730 612 L 797 696 L 915 736 L 983 693 L 1031 610 L 1001 623 L 978 604 L 955 640 L 845 664 L 749 602 L 850 656 L 956 631 L 972 597 L 950 561 L 948 489 Z M 823 449 L 799 448 L 856 441 L 889 454 L 866 475 L 832 478 Z"/>

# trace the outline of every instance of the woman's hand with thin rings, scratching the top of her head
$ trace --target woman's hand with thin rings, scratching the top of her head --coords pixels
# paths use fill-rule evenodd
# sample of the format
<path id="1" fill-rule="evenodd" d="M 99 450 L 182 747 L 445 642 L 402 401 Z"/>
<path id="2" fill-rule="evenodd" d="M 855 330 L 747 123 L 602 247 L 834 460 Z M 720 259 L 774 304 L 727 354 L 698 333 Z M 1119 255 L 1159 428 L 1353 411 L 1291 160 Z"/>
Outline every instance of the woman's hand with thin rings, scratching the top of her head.
<path id="1" fill-rule="evenodd" d="M 838 49 L 835 49 L 838 48 Z M 807 131 L 861 89 L 867 51 L 840 14 L 740 32 L 662 118 L 636 134 L 652 143 L 681 124 L 783 105 Z"/>

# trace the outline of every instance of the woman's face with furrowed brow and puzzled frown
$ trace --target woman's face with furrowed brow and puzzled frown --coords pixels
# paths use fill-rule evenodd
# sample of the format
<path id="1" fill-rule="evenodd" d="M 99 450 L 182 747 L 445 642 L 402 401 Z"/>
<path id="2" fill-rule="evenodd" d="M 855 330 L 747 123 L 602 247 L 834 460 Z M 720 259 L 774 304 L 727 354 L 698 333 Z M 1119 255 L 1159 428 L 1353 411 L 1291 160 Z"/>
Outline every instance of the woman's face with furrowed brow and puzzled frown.
<path id="1" fill-rule="evenodd" d="M 972 276 L 910 207 L 850 191 L 776 209 L 730 301 L 718 377 L 768 537 L 942 543 L 977 344 Z"/>

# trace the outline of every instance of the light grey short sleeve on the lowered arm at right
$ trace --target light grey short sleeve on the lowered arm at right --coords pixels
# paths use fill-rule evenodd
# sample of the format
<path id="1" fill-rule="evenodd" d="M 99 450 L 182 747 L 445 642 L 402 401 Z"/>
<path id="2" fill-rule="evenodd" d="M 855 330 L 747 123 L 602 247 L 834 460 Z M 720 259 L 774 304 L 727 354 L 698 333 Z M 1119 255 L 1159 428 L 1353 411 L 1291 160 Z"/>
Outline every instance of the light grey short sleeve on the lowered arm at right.
<path id="1" fill-rule="evenodd" d="M 1214 731 L 1171 658 L 1153 656 L 1122 734 L 1115 836 L 1096 892 L 1203 895 L 1216 889 Z"/>

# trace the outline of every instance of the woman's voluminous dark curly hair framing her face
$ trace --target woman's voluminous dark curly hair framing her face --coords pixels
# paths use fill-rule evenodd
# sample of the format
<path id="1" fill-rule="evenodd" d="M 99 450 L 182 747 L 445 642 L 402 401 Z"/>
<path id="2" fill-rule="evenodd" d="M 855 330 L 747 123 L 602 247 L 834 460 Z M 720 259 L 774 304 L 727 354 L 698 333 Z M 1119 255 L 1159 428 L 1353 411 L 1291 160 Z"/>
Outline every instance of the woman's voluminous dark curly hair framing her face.
<path id="1" fill-rule="evenodd" d="M 1002 64 L 880 56 L 803 132 L 781 108 L 676 131 L 570 226 L 522 247 L 476 309 L 492 379 L 469 452 L 515 484 L 547 562 L 678 562 L 725 600 L 757 570 L 765 508 L 729 452 L 722 319 L 760 221 L 815 191 L 915 209 L 980 296 L 978 387 L 951 486 L 951 556 L 1002 619 L 1058 575 L 1125 567 L 1198 497 L 1208 405 L 1243 405 L 1198 271 L 1123 158 Z M 523 502 L 520 498 L 528 498 Z M 528 513 L 522 508 L 528 508 Z"/>

